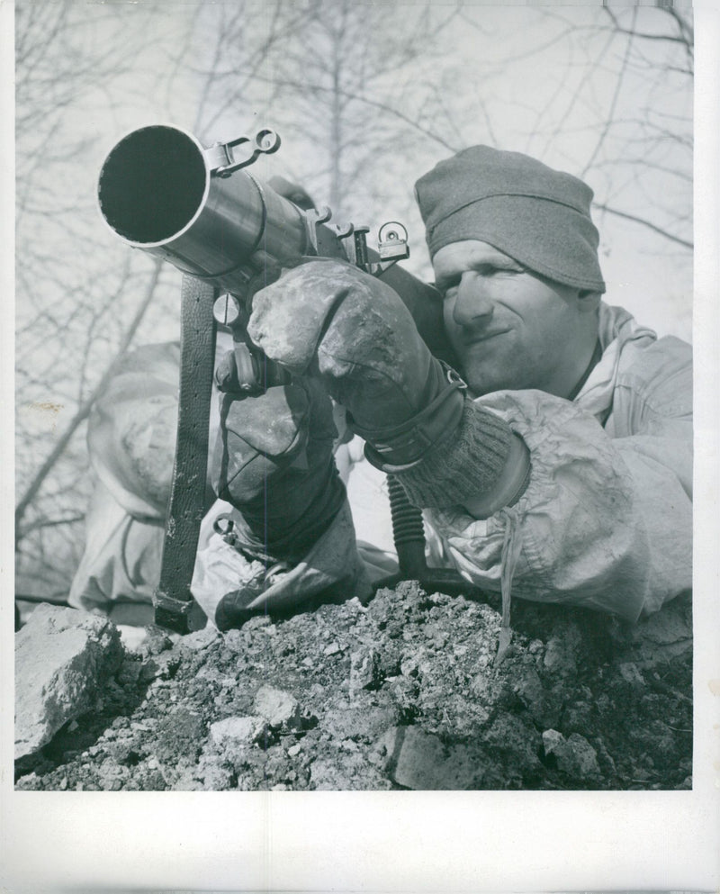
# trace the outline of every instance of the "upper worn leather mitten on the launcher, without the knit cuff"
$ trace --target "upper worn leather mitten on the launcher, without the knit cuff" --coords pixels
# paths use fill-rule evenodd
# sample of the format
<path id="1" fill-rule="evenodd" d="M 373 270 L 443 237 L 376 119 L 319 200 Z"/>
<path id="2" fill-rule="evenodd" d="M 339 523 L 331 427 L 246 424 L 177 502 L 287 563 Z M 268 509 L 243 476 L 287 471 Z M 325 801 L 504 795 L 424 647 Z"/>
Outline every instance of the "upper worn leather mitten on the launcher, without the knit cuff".
<path id="1" fill-rule="evenodd" d="M 386 471 L 450 438 L 464 396 L 419 337 L 401 298 L 374 276 L 318 259 L 256 293 L 247 333 L 295 374 L 319 372 Z"/>

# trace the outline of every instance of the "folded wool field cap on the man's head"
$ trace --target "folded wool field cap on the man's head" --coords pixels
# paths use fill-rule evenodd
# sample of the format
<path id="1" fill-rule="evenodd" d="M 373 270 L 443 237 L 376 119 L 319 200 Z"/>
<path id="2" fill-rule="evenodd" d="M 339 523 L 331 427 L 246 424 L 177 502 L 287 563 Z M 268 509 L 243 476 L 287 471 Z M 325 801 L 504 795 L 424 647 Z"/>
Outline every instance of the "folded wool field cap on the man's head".
<path id="1" fill-rule="evenodd" d="M 577 177 L 519 152 L 473 146 L 420 177 L 415 195 L 430 257 L 480 239 L 557 283 L 605 292 L 593 192 Z"/>

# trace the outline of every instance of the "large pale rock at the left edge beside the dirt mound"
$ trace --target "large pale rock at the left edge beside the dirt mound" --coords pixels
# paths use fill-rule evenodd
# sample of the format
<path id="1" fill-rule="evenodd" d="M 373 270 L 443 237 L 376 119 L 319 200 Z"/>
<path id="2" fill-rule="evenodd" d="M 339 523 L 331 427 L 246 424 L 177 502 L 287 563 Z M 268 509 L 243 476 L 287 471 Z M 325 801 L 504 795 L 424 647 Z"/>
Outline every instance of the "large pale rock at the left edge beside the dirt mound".
<path id="1" fill-rule="evenodd" d="M 120 633 L 108 619 L 39 605 L 15 635 L 15 759 L 34 754 L 92 709 L 122 656 Z"/>

